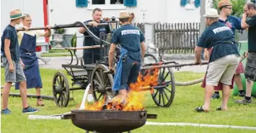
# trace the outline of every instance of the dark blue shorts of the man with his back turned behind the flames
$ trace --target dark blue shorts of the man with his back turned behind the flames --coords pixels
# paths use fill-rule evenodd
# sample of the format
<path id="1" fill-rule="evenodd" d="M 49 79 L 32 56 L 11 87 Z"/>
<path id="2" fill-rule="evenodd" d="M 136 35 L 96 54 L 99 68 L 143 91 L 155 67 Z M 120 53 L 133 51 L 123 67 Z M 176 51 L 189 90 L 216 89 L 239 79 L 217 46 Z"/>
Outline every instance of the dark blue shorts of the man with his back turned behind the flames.
<path id="1" fill-rule="evenodd" d="M 128 89 L 130 83 L 135 83 L 140 69 L 141 62 L 127 56 L 126 63 L 123 63 L 120 89 Z"/>

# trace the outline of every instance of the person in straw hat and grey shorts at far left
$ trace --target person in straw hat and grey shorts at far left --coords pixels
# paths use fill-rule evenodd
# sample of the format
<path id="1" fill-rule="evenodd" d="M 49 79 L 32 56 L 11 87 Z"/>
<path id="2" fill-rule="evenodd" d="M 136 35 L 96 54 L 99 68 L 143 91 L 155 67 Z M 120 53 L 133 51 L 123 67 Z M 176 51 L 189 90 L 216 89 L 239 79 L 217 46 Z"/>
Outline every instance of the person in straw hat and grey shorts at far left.
<path id="1" fill-rule="evenodd" d="M 34 113 L 39 109 L 34 109 L 27 104 L 27 85 L 26 77 L 23 73 L 25 68 L 22 60 L 19 58 L 19 43 L 17 39 L 17 32 L 15 26 L 21 22 L 23 17 L 19 9 L 14 9 L 10 12 L 10 24 L 4 29 L 1 37 L 1 52 L 3 52 L 2 62 L 4 64 L 4 90 L 2 94 L 2 110 L 1 114 L 11 114 L 12 111 L 8 109 L 8 98 L 10 88 L 13 82 L 19 82 L 19 92 L 22 97 L 22 113 Z"/>

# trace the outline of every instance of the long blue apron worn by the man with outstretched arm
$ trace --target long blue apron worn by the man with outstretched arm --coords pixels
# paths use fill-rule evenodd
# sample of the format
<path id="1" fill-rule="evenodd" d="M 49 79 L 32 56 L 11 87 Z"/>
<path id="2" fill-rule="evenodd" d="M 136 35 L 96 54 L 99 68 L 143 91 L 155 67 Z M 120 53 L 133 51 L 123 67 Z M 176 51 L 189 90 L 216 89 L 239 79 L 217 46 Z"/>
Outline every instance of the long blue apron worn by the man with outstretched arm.
<path id="1" fill-rule="evenodd" d="M 19 52 L 20 58 L 25 65 L 24 74 L 27 78 L 27 88 L 43 87 L 35 47 L 36 36 L 24 33 Z M 15 89 L 19 89 L 19 83 L 15 83 Z"/>

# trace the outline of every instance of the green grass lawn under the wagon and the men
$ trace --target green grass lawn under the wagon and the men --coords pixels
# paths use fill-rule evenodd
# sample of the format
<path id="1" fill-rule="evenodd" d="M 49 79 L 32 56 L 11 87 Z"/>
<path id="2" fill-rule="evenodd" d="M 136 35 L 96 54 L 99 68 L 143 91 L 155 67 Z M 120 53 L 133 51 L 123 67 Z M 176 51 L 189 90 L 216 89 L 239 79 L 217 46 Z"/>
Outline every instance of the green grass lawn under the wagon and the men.
<path id="1" fill-rule="evenodd" d="M 52 96 L 51 84 L 53 75 L 58 70 L 41 69 L 40 73 L 43 80 L 42 94 Z M 66 73 L 66 72 L 64 72 Z M 192 81 L 201 78 L 203 73 L 181 72 L 175 73 L 176 81 Z M 69 78 L 69 82 L 70 77 Z M 4 71 L 1 68 L 1 86 L 4 83 Z M 70 85 L 71 87 L 71 85 Z M 12 93 L 19 93 L 14 88 Z M 186 122 L 198 124 L 225 124 L 235 126 L 256 127 L 256 104 L 237 105 L 234 99 L 239 97 L 232 96 L 229 100 L 229 111 L 215 111 L 221 104 L 221 100 L 211 102 L 211 111 L 209 113 L 197 113 L 194 111 L 196 106 L 203 104 L 203 92 L 200 84 L 193 86 L 176 86 L 175 100 L 169 108 L 157 107 L 149 96 L 147 99 L 146 110 L 150 114 L 157 114 L 157 119 L 148 119 L 148 121 L 157 122 Z M 28 90 L 28 93 L 35 94 L 35 89 Z M 66 108 L 57 107 L 54 101 L 44 100 L 45 106 L 40 107 L 38 115 L 61 114 L 78 108 L 83 91 L 74 91 L 74 101 L 70 101 Z M 71 97 L 73 97 L 71 92 Z M 29 104 L 35 106 L 36 99 L 29 98 Z M 253 98 L 255 103 L 256 99 Z M 22 114 L 21 98 L 9 98 L 9 109 L 11 115 L 1 115 L 1 132 L 83 132 L 84 130 L 75 127 L 70 120 L 30 120 L 28 114 Z M 175 126 L 144 126 L 132 132 L 255 132 L 255 130 L 244 129 L 217 129 L 208 127 L 175 127 Z"/>

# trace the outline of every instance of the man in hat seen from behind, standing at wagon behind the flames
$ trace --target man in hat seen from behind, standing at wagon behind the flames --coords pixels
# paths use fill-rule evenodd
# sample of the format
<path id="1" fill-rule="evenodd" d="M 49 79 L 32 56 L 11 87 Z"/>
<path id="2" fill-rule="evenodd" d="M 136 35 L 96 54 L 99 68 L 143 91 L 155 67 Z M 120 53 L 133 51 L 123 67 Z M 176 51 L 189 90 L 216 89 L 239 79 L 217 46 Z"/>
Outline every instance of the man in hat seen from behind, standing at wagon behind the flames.
<path id="1" fill-rule="evenodd" d="M 115 71 L 112 91 L 119 92 L 123 100 L 127 96 L 130 83 L 135 83 L 141 68 L 141 60 L 144 58 L 146 47 L 144 35 L 138 27 L 128 22 L 130 14 L 126 11 L 120 12 L 121 27 L 116 29 L 112 35 L 109 51 L 109 67 L 113 68 L 115 46 L 120 44 L 120 60 Z"/>

